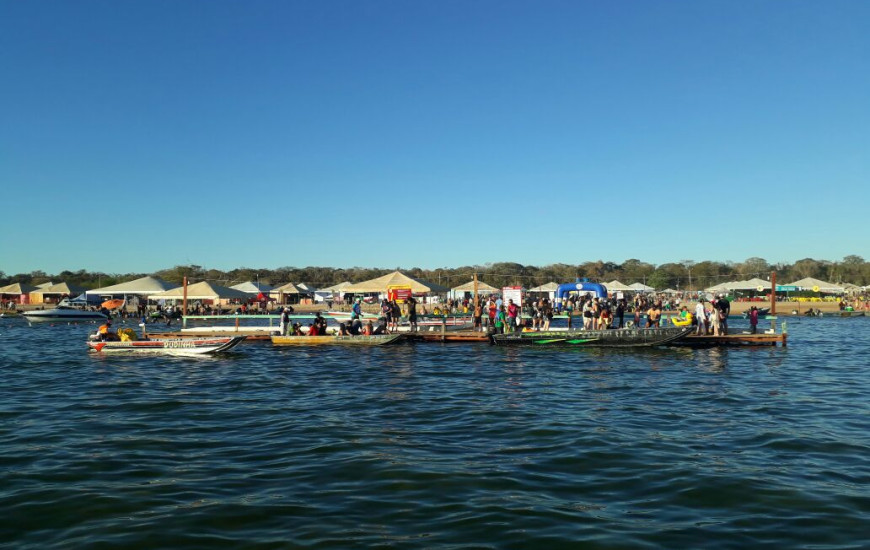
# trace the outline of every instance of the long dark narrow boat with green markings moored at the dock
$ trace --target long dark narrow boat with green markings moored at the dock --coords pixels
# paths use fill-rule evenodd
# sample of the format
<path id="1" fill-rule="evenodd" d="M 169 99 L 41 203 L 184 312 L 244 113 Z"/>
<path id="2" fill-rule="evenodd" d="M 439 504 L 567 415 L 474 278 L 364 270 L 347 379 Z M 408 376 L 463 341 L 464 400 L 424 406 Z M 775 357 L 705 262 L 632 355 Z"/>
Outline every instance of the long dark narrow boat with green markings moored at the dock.
<path id="1" fill-rule="evenodd" d="M 492 341 L 499 346 L 650 347 L 679 340 L 693 330 L 694 327 L 664 327 L 512 332 L 495 334 Z"/>

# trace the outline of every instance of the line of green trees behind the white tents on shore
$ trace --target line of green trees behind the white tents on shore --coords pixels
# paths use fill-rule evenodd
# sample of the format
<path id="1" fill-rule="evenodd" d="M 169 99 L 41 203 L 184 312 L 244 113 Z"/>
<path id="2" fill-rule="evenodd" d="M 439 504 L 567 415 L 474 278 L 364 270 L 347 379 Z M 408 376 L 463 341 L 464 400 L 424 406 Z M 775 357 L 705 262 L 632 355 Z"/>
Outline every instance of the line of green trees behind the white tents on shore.
<path id="1" fill-rule="evenodd" d="M 665 288 L 699 290 L 731 280 L 745 280 L 753 277 L 766 279 L 771 271 L 776 271 L 779 284 L 804 277 L 815 277 L 828 282 L 852 283 L 860 286 L 870 284 L 870 263 L 861 256 L 850 255 L 838 262 L 805 258 L 792 264 L 771 264 L 763 258 L 753 257 L 739 263 L 682 260 L 660 265 L 631 259 L 621 264 L 598 260 L 580 264 L 559 263 L 543 267 L 499 262 L 437 269 L 419 267 L 279 267 L 277 269 L 240 267 L 230 271 L 221 271 L 198 265 L 188 265 L 175 266 L 155 273 L 125 274 L 67 270 L 55 274 L 32 271 L 6 275 L 0 271 L 0 286 L 11 283 L 37 285 L 46 282 L 66 282 L 92 289 L 153 275 L 179 285 L 186 276 L 190 282 L 209 281 L 222 286 L 232 286 L 246 281 L 259 281 L 272 286 L 292 282 L 304 283 L 313 288 L 325 288 L 343 281 L 359 282 L 373 279 L 396 269 L 417 279 L 438 283 L 446 287 L 467 283 L 472 280 L 475 273 L 479 281 L 496 288 L 504 286 L 532 288 L 548 282 L 565 283 L 585 278 L 602 283 L 614 279 L 625 284 L 641 282 L 659 290 Z"/>

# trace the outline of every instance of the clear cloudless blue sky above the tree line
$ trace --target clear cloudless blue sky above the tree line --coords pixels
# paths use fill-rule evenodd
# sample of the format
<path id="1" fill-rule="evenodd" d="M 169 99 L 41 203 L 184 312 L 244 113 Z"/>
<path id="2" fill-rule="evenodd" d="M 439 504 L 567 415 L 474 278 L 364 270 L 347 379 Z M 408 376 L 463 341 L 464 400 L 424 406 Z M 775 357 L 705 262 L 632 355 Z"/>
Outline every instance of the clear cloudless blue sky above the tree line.
<path id="1" fill-rule="evenodd" d="M 870 2 L 0 0 L 0 270 L 870 256 Z"/>

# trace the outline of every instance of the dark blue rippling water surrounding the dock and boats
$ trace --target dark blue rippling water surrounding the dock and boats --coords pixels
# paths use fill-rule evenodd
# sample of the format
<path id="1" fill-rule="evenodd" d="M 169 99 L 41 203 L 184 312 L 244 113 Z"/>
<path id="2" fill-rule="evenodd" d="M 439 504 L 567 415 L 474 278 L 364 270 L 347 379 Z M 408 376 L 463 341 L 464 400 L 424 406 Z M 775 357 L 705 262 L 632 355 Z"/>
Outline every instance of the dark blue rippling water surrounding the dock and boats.
<path id="1" fill-rule="evenodd" d="M 866 548 L 870 319 L 788 326 L 189 359 L 3 319 L 0 546 Z"/>

